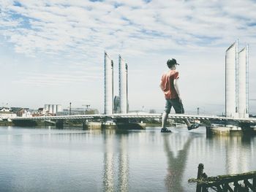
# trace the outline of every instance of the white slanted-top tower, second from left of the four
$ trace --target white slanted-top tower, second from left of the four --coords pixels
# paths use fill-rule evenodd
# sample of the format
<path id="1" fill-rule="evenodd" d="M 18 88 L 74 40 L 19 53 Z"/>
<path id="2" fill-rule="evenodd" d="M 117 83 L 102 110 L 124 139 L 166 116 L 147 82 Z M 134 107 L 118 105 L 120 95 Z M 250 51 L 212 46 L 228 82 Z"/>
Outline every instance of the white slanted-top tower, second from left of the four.
<path id="1" fill-rule="evenodd" d="M 120 112 L 127 113 L 127 98 L 128 98 L 128 66 L 124 62 L 124 59 L 119 55 L 119 99 L 120 99 Z"/>

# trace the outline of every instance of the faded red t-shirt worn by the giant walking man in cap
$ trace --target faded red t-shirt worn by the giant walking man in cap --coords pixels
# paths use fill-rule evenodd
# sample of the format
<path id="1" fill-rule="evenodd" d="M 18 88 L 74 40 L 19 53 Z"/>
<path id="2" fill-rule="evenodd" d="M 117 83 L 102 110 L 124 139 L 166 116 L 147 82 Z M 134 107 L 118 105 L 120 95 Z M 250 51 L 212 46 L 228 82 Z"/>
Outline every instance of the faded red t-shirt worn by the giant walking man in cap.
<path id="1" fill-rule="evenodd" d="M 176 99 L 178 94 L 174 88 L 173 80 L 178 79 L 178 72 L 176 70 L 170 70 L 165 74 L 162 74 L 161 78 L 161 88 L 165 93 L 165 99 Z"/>

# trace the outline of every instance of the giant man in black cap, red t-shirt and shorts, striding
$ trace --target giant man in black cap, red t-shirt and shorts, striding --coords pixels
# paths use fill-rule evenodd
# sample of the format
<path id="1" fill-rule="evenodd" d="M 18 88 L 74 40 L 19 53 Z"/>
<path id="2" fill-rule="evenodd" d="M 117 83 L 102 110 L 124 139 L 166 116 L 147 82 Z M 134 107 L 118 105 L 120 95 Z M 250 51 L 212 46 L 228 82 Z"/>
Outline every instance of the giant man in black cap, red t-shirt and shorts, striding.
<path id="1" fill-rule="evenodd" d="M 176 71 L 176 59 L 169 59 L 167 61 L 167 66 L 170 69 L 165 74 L 162 74 L 160 88 L 165 94 L 165 112 L 162 114 L 162 129 L 161 132 L 171 132 L 170 129 L 167 129 L 166 121 L 168 114 L 170 113 L 171 107 L 174 108 L 176 113 L 184 114 L 184 107 L 181 100 L 181 94 L 178 90 L 178 71 Z M 189 130 L 193 128 L 198 128 L 199 124 L 191 124 L 189 120 L 184 119 L 184 122 L 187 124 Z"/>

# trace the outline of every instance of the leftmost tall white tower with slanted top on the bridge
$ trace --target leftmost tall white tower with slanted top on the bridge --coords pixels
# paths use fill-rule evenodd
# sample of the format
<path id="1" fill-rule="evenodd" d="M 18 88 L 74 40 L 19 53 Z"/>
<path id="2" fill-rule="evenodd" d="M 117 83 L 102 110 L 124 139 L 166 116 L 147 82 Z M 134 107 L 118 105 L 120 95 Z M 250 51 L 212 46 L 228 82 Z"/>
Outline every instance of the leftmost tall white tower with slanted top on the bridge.
<path id="1" fill-rule="evenodd" d="M 107 53 L 104 54 L 104 114 L 113 114 L 113 61 L 110 59 Z"/>

